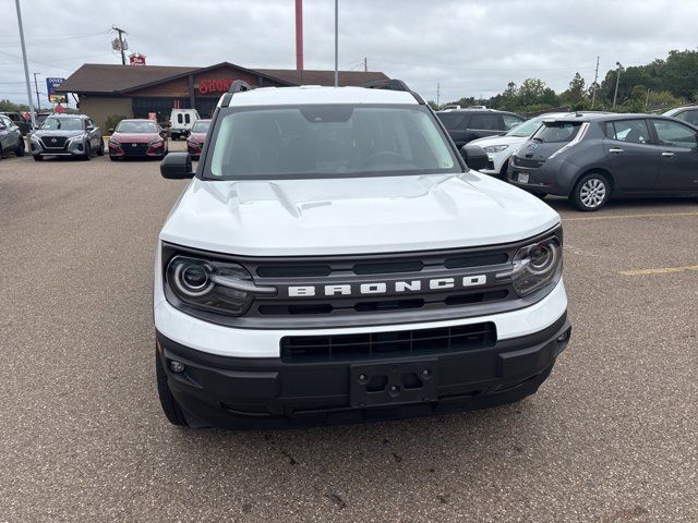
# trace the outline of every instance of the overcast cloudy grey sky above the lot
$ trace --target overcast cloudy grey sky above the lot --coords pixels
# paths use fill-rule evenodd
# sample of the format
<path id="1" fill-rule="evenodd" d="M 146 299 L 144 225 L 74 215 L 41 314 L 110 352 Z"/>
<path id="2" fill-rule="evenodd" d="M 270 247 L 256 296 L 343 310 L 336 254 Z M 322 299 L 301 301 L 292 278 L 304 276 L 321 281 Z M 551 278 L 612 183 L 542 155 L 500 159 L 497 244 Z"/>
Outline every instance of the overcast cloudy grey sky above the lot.
<path id="1" fill-rule="evenodd" d="M 29 73 L 119 63 L 112 25 L 154 65 L 296 65 L 293 0 L 21 0 Z M 98 8 L 97 8 L 98 7 Z M 0 98 L 26 101 L 14 0 L 0 0 Z M 405 80 L 429 99 L 491 96 L 540 77 L 556 90 L 695 49 L 695 0 L 339 0 L 339 65 Z M 334 68 L 334 1 L 304 0 L 305 68 Z M 46 97 L 41 98 L 46 102 Z"/>

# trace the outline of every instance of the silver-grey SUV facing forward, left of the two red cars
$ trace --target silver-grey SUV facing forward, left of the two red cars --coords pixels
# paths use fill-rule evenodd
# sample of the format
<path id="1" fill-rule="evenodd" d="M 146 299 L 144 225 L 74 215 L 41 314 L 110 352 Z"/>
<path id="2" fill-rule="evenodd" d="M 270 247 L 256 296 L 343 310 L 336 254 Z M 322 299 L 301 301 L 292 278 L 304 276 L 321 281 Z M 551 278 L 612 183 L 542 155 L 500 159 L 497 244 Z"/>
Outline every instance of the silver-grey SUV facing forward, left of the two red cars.
<path id="1" fill-rule="evenodd" d="M 89 160 L 105 154 L 101 131 L 85 114 L 51 114 L 32 133 L 29 144 L 36 161 L 46 156 L 71 156 Z"/>

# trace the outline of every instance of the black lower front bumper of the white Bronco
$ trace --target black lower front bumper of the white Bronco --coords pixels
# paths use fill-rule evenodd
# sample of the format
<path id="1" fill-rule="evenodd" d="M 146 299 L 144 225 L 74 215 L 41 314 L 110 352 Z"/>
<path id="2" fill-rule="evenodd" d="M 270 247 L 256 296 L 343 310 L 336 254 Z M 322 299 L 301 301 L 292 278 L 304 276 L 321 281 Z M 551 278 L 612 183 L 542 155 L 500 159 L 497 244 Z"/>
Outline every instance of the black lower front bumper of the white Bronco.
<path id="1" fill-rule="evenodd" d="M 570 331 L 564 314 L 539 332 L 483 349 L 314 363 L 220 356 L 160 332 L 157 348 L 171 392 L 191 425 L 263 428 L 409 417 L 518 401 L 545 380 Z M 172 361 L 183 363 L 184 372 L 172 373 Z M 400 381 L 421 373 L 428 377 L 409 378 L 411 386 Z M 380 387 L 383 375 L 387 385 L 368 391 L 366 381 L 380 378 Z M 393 382 L 399 385 L 395 392 L 388 390 Z"/>

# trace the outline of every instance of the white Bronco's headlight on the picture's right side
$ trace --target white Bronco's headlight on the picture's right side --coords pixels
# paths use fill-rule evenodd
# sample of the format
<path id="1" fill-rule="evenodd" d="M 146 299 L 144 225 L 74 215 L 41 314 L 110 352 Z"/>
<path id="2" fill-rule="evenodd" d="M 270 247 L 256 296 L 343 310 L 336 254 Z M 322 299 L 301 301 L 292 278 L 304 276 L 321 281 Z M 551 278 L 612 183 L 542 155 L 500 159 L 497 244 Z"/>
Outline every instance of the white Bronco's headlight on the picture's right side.
<path id="1" fill-rule="evenodd" d="M 558 281 L 562 272 L 563 246 L 556 236 L 552 236 L 519 248 L 512 270 L 496 276 L 497 279 L 510 278 L 514 290 L 522 297 Z"/>

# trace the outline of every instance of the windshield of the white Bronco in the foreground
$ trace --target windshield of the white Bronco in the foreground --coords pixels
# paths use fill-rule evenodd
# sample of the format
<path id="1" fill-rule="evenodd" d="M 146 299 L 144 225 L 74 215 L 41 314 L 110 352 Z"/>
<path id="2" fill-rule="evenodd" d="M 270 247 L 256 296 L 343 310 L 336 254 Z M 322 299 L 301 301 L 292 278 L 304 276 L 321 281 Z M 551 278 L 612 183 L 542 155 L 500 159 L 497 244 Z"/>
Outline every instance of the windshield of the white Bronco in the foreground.
<path id="1" fill-rule="evenodd" d="M 460 172 L 418 105 L 243 109 L 220 119 L 214 142 L 210 172 L 218 178 Z"/>

